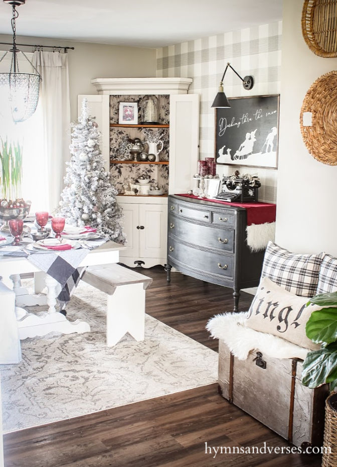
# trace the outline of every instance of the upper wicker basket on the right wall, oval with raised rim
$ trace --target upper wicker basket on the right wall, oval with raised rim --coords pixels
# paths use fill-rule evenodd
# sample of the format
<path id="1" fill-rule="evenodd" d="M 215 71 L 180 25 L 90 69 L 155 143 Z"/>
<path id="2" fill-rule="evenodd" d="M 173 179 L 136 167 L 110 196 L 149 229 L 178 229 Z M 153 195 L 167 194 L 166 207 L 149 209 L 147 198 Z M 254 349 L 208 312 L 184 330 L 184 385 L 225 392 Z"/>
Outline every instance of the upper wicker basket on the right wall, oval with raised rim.
<path id="1" fill-rule="evenodd" d="M 320 57 L 337 57 L 337 0 L 304 0 L 302 33 Z"/>

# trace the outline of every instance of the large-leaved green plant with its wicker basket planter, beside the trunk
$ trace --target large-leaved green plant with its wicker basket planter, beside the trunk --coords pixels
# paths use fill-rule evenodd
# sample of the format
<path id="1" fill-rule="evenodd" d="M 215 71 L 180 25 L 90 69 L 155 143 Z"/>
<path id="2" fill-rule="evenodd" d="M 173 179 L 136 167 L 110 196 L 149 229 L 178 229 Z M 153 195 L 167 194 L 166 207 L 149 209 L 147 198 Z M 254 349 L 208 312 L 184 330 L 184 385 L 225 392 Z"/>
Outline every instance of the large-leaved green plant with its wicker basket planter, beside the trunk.
<path id="1" fill-rule="evenodd" d="M 310 298 L 309 303 L 322 306 L 313 311 L 306 323 L 306 335 L 313 342 L 321 344 L 319 350 L 309 352 L 303 364 L 302 384 L 316 388 L 330 384 L 330 390 L 337 389 L 337 292 L 324 293 Z M 325 428 L 322 466 L 336 465 L 337 456 L 337 393 L 332 392 L 325 404 Z"/>

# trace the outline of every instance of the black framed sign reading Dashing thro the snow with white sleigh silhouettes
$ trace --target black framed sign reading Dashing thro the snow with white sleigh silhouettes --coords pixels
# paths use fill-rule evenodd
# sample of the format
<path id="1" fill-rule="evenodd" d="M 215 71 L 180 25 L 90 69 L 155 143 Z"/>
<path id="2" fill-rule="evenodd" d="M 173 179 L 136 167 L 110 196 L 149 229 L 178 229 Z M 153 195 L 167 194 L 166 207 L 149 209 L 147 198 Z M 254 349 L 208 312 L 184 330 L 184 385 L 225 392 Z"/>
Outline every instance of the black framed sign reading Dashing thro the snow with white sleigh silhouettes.
<path id="1" fill-rule="evenodd" d="M 228 99 L 217 108 L 217 164 L 277 167 L 279 94 Z"/>

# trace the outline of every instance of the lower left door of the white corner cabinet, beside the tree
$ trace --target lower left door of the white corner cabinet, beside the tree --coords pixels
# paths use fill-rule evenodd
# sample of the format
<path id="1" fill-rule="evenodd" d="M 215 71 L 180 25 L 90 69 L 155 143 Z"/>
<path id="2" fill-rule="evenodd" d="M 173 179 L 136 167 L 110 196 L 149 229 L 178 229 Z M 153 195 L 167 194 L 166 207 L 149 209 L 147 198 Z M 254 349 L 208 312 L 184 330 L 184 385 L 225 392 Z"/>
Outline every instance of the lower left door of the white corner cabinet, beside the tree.
<path id="1" fill-rule="evenodd" d="M 120 203 L 123 208 L 122 227 L 126 236 L 126 250 L 121 252 L 121 257 L 139 256 L 139 215 L 138 204 Z"/>

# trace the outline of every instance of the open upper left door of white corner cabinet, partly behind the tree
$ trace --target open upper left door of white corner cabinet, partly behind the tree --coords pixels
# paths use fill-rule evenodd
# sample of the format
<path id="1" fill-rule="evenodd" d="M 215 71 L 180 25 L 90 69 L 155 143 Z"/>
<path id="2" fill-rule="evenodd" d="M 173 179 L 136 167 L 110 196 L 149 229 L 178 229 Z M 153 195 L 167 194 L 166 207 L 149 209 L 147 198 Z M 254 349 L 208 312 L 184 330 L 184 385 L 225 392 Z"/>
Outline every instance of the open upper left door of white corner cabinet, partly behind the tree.
<path id="1" fill-rule="evenodd" d="M 101 132 L 101 151 L 104 158 L 104 168 L 110 170 L 110 96 L 108 95 L 84 95 L 77 96 L 77 114 L 81 115 L 82 101 L 88 100 L 88 108 L 91 116 L 95 117 L 98 130 Z"/>

